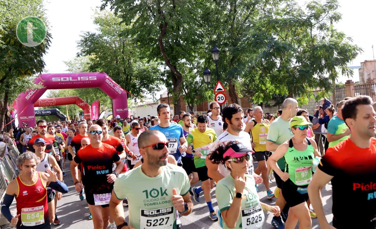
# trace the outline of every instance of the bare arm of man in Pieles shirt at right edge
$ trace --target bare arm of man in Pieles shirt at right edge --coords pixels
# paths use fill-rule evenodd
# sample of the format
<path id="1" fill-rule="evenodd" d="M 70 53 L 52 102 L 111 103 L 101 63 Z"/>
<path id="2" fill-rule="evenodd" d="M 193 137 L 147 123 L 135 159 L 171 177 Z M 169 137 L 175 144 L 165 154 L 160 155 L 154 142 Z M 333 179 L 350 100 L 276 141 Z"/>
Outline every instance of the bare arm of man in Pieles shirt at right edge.
<path id="1" fill-rule="evenodd" d="M 333 176 L 324 173 L 320 169 L 317 169 L 308 185 L 309 200 L 311 201 L 312 207 L 316 212 L 321 228 L 331 227 L 325 217 L 323 202 L 321 200 L 321 189 L 323 189 L 324 186 L 332 180 L 332 178 Z"/>

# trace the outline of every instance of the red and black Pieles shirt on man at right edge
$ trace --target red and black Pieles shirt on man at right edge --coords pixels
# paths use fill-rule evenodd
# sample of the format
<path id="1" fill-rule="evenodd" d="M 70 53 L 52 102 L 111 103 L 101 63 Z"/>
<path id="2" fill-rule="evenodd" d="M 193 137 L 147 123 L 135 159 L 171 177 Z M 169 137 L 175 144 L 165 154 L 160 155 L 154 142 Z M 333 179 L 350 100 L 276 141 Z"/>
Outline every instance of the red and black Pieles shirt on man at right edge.
<path id="1" fill-rule="evenodd" d="M 327 149 L 318 168 L 334 176 L 333 225 L 338 228 L 375 228 L 376 138 L 371 138 L 369 148 L 359 148 L 350 138 L 340 142 Z"/>

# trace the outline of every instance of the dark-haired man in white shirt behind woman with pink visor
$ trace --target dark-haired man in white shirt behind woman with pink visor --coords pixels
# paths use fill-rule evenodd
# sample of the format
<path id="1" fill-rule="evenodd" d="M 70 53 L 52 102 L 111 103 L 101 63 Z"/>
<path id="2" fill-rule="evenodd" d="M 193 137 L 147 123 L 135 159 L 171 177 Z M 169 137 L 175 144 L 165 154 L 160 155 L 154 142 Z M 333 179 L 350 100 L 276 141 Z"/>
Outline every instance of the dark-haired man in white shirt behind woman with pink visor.
<path id="1" fill-rule="evenodd" d="M 251 151 L 251 137 L 248 133 L 243 131 L 244 116 L 242 108 L 238 104 L 230 104 L 223 108 L 222 115 L 224 121 L 227 123 L 227 130 L 217 137 L 217 140 L 211 145 L 209 153 L 217 146 L 218 142 L 224 141 L 238 141 L 243 143 Z M 209 160 L 209 155 L 205 159 L 205 165 L 208 167 L 208 176 L 217 182 L 229 174 L 229 170 L 226 169 L 224 165 L 213 164 Z M 253 173 L 252 163 L 249 163 L 248 174 L 255 177 L 256 183 L 262 182 L 262 178 Z"/>

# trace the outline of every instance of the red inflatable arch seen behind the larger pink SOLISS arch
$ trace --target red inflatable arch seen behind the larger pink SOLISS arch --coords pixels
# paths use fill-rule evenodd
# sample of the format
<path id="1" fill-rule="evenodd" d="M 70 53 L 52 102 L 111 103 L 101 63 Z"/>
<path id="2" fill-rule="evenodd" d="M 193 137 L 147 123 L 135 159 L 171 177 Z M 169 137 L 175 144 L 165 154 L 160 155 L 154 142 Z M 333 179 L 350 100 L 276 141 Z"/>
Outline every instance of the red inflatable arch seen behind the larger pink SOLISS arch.
<path id="1" fill-rule="evenodd" d="M 83 110 L 84 119 L 91 118 L 91 106 L 78 96 L 38 99 L 34 103 L 34 107 L 50 107 L 69 104 L 76 104 L 79 106 Z"/>

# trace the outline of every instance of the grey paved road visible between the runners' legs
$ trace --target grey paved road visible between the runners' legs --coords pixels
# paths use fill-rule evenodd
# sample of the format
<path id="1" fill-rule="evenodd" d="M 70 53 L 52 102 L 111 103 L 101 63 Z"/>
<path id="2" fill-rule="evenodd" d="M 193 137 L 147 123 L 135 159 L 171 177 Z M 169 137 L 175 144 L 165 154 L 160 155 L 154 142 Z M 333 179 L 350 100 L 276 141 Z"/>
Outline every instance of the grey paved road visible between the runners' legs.
<path id="1" fill-rule="evenodd" d="M 257 163 L 254 163 L 255 168 L 257 167 Z M 66 164 L 65 174 L 64 177 L 65 183 L 69 188 L 69 192 L 63 195 L 61 201 L 58 202 L 57 208 L 57 215 L 61 224 L 58 226 L 53 226 L 52 228 L 56 229 L 83 229 L 83 228 L 92 228 L 92 220 L 88 220 L 89 215 L 89 208 L 85 200 L 81 201 L 79 199 L 79 194 L 74 190 L 73 182 L 71 180 L 71 175 L 69 171 L 69 163 Z M 199 185 L 199 184 L 197 184 Z M 276 188 L 275 182 L 271 185 L 271 190 Z M 266 197 L 265 186 L 263 184 L 258 186 L 259 189 L 259 196 L 261 198 L 261 202 L 267 203 L 269 205 L 274 205 L 276 198 L 268 200 Z M 218 208 L 217 200 L 215 199 L 215 186 L 211 192 L 212 194 L 212 203 L 214 209 Z M 329 222 L 332 221 L 333 214 L 331 214 L 332 208 L 332 186 L 326 185 L 326 187 L 322 191 L 323 196 L 323 205 L 324 211 L 326 213 L 326 218 Z M 208 214 L 208 207 L 203 198 L 202 194 L 202 203 L 194 202 L 194 209 L 193 212 L 188 216 L 183 216 L 180 218 L 183 224 L 183 228 L 220 228 L 216 221 L 211 221 L 209 219 Z M 13 204 L 14 206 L 14 204 Z M 128 207 L 124 207 L 125 216 L 128 220 Z M 265 212 L 265 217 L 267 220 L 264 223 L 263 229 L 272 229 L 274 228 L 271 226 L 270 221 L 273 215 L 269 212 Z M 319 228 L 317 219 L 312 219 L 312 228 Z"/>

